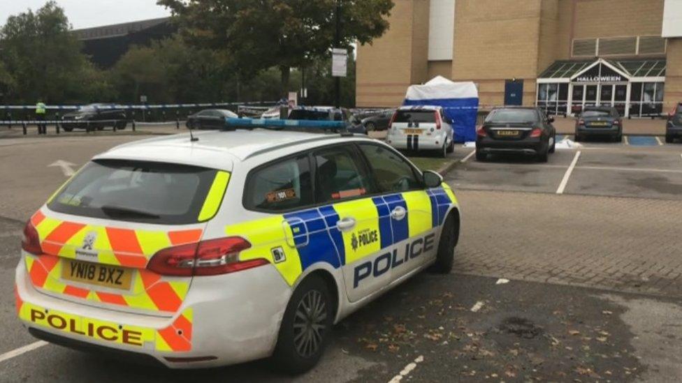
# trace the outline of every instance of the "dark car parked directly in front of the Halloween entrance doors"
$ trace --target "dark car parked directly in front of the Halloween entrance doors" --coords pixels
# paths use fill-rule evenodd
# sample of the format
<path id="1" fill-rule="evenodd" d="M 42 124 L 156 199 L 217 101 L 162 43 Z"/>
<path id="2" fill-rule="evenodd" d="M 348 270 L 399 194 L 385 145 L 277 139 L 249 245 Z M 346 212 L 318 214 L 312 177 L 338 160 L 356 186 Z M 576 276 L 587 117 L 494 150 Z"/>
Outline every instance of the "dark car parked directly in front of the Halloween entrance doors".
<path id="1" fill-rule="evenodd" d="M 575 140 L 585 137 L 611 137 L 615 142 L 623 140 L 623 119 L 615 107 L 585 107 L 576 120 Z"/>

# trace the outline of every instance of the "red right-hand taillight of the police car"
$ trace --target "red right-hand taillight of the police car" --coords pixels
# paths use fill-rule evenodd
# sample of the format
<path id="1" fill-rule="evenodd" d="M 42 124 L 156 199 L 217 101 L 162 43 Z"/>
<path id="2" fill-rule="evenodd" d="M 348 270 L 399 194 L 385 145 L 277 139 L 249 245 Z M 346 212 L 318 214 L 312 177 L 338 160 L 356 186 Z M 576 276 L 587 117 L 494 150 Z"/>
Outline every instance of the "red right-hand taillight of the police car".
<path id="1" fill-rule="evenodd" d="M 239 253 L 251 247 L 240 236 L 208 239 L 199 243 L 159 250 L 147 269 L 164 276 L 215 276 L 268 264 L 268 260 L 239 260 Z"/>

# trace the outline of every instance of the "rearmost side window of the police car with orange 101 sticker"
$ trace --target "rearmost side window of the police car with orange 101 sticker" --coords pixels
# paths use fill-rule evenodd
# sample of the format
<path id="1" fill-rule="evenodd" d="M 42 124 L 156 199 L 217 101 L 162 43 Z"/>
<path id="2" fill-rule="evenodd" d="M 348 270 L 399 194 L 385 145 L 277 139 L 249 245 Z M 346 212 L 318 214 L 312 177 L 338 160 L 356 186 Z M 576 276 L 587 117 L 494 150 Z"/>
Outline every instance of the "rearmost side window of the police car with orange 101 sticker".
<path id="1" fill-rule="evenodd" d="M 313 203 L 310 161 L 289 158 L 261 167 L 247 181 L 247 209 L 291 210 Z"/>

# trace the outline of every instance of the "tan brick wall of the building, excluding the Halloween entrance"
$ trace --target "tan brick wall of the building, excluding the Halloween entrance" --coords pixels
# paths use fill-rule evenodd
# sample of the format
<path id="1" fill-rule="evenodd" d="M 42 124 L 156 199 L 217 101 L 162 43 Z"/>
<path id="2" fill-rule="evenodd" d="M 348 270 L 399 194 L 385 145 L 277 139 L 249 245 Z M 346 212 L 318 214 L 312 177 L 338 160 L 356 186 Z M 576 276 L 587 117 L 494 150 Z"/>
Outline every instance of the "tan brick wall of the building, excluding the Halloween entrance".
<path id="1" fill-rule="evenodd" d="M 432 1 L 437 7 L 451 0 Z M 476 82 L 486 105 L 502 104 L 505 80 L 521 79 L 523 103 L 534 105 L 537 75 L 553 61 L 571 59 L 574 38 L 660 36 L 664 5 L 664 0 L 456 0 L 449 61 L 428 59 L 430 1 L 394 2 L 391 29 L 358 48 L 358 106 L 398 105 L 409 84 L 435 75 Z M 682 77 L 675 77 L 682 70 L 680 45 L 668 43 L 666 102 L 682 99 L 675 93 L 682 91 L 677 83 Z"/>

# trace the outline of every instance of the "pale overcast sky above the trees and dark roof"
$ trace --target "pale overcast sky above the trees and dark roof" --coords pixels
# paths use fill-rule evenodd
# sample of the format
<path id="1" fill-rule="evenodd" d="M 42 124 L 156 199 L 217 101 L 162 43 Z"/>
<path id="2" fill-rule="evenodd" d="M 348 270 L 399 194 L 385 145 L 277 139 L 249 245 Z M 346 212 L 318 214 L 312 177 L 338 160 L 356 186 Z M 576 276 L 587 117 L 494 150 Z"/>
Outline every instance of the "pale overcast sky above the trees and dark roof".
<path id="1" fill-rule="evenodd" d="M 29 8 L 41 8 L 46 1 L 0 0 L 0 25 L 5 24 L 7 17 L 11 15 L 25 12 Z M 157 6 L 157 0 L 57 0 L 57 4 L 64 8 L 73 29 L 170 15 L 166 8 Z"/>

